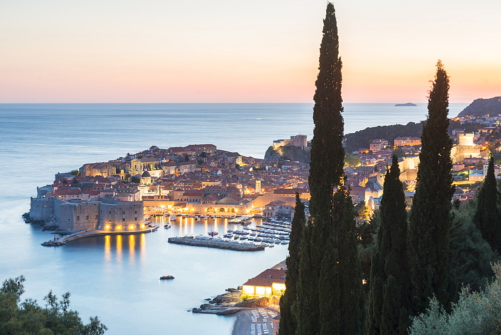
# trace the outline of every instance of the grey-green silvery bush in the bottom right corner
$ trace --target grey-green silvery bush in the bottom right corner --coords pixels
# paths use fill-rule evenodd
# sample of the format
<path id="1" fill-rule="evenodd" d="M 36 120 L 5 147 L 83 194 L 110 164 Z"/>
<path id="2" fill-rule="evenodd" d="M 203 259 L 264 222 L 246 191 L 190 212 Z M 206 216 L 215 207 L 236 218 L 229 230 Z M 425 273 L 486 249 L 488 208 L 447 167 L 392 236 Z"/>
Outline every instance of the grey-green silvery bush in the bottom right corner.
<path id="1" fill-rule="evenodd" d="M 410 334 L 499 334 L 501 333 L 501 265 L 492 266 L 494 279 L 485 289 L 461 289 L 459 300 L 447 313 L 433 297 L 424 313 L 414 318 Z"/>

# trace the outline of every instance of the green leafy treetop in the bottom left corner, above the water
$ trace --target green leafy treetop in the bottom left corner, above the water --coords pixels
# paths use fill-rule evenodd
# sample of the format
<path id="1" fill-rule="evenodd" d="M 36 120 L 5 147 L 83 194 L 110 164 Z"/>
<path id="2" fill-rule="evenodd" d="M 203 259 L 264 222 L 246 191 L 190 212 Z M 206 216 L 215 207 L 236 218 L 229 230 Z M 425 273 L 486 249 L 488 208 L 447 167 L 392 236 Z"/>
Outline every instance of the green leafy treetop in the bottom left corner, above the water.
<path id="1" fill-rule="evenodd" d="M 70 293 L 58 299 L 50 291 L 45 297 L 46 306 L 34 299 L 21 301 L 24 293 L 24 276 L 10 278 L 0 288 L 0 333 L 2 334 L 103 334 L 108 328 L 97 316 L 84 324 L 78 312 L 71 310 Z"/>

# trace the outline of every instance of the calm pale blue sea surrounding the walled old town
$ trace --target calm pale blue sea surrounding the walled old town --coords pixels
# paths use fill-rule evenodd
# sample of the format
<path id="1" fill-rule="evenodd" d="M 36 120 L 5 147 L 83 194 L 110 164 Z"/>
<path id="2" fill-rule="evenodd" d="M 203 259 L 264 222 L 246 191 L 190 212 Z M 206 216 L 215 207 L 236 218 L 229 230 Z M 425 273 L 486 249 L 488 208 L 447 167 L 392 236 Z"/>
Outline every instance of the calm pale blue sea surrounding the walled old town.
<path id="1" fill-rule="evenodd" d="M 425 104 L 344 104 L 345 132 L 426 118 Z M 467 104 L 451 104 L 456 116 Z M 236 252 L 167 243 L 170 236 L 228 228 L 224 221 L 177 221 L 169 230 L 87 238 L 42 247 L 49 232 L 25 224 L 36 187 L 57 172 L 145 150 L 215 144 L 263 158 L 273 140 L 313 135 L 313 104 L 0 104 L 0 280 L 24 274 L 25 297 L 72 293 L 84 319 L 110 334 L 229 334 L 233 316 L 187 312 L 287 255 L 287 246 Z M 212 225 L 212 226 L 211 226 Z M 159 281 L 160 275 L 176 278 Z"/>

